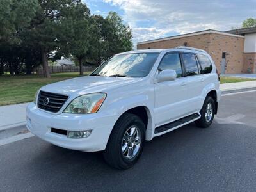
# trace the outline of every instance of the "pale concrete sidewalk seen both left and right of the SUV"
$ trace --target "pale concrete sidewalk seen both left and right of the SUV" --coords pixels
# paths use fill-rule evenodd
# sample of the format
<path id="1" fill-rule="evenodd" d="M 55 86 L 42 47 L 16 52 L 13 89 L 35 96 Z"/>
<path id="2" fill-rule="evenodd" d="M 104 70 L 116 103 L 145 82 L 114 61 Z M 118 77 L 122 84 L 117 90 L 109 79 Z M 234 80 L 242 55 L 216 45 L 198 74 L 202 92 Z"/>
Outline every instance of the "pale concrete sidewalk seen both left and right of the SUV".
<path id="1" fill-rule="evenodd" d="M 256 81 L 220 84 L 221 91 L 256 88 Z M 26 106 L 28 103 L 0 106 L 0 131 L 26 125 Z"/>

